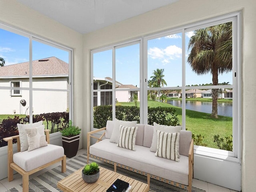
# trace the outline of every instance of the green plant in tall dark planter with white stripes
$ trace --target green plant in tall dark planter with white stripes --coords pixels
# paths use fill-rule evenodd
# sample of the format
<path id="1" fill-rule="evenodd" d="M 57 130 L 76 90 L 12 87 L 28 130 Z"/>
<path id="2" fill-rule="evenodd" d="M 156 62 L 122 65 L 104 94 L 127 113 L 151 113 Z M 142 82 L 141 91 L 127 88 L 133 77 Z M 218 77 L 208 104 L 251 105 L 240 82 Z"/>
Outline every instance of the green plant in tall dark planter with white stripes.
<path id="1" fill-rule="evenodd" d="M 76 156 L 79 146 L 79 134 L 81 129 L 72 125 L 72 120 L 69 120 L 68 126 L 60 130 L 62 133 L 62 146 L 64 153 L 68 158 Z"/>

